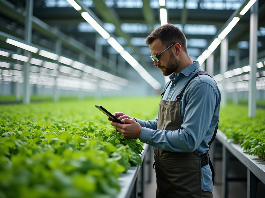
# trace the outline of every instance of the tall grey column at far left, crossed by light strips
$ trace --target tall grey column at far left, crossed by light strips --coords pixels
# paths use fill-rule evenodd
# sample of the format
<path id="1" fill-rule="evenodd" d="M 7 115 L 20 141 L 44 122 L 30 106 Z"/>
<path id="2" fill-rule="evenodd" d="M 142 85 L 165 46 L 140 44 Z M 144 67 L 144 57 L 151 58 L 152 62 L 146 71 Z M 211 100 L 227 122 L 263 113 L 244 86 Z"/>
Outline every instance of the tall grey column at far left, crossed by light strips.
<path id="1" fill-rule="evenodd" d="M 26 1 L 26 21 L 25 21 L 25 41 L 28 44 L 31 43 L 32 40 L 32 17 L 33 17 L 33 0 Z M 28 56 L 29 60 L 31 58 L 31 52 L 24 50 L 24 55 Z M 29 67 L 30 63 L 26 62 L 24 64 L 24 96 L 23 103 L 30 103 L 30 86 L 29 86 Z"/>

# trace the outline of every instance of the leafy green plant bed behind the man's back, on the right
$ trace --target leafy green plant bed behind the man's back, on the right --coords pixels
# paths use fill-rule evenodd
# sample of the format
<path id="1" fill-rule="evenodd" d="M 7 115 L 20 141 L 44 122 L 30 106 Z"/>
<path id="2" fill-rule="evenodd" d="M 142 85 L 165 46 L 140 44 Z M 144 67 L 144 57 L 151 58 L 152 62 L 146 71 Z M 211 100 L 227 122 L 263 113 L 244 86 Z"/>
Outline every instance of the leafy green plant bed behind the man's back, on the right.
<path id="1" fill-rule="evenodd" d="M 265 161 L 265 110 L 257 109 L 256 114 L 250 118 L 248 107 L 227 105 L 220 110 L 219 129 L 249 155 L 258 155 Z"/>

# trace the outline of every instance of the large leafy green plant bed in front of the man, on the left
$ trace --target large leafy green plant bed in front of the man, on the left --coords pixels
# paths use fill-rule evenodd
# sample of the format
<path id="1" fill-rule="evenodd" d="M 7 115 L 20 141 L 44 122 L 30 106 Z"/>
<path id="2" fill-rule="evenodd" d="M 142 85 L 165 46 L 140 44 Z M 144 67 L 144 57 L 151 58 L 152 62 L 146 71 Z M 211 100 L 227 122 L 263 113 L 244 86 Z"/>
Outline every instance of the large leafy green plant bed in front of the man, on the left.
<path id="1" fill-rule="evenodd" d="M 158 102 L 149 97 L 1 105 L 0 197 L 114 197 L 117 178 L 141 164 L 143 148 L 113 130 L 94 106 L 153 119 Z"/>

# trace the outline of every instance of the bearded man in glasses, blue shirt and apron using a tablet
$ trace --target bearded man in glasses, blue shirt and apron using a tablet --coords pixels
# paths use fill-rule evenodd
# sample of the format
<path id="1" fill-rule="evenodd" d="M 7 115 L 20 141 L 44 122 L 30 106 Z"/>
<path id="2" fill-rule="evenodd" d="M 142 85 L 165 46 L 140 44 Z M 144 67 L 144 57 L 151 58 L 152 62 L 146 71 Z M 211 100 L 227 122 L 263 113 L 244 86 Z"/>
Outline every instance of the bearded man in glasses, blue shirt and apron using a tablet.
<path id="1" fill-rule="evenodd" d="M 219 119 L 217 84 L 205 74 L 188 83 L 203 70 L 189 57 L 185 35 L 178 27 L 158 27 L 147 36 L 146 44 L 154 66 L 171 80 L 164 87 L 158 118 L 136 120 L 117 112 L 114 116 L 128 124 L 112 120 L 111 125 L 125 138 L 139 138 L 154 147 L 157 198 L 213 197 L 207 151 Z"/>

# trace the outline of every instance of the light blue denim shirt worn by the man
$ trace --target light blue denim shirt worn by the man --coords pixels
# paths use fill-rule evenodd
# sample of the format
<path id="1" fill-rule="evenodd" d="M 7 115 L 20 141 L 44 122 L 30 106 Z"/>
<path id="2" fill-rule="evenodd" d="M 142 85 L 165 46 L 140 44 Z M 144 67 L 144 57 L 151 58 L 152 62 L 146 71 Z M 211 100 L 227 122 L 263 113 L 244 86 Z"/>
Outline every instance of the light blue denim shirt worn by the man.
<path id="1" fill-rule="evenodd" d="M 171 74 L 170 84 L 162 100 L 176 100 L 195 72 L 202 71 L 198 61 L 193 62 L 178 74 Z M 156 120 L 138 120 L 143 127 L 140 141 L 153 147 L 172 152 L 193 152 L 200 155 L 209 149 L 208 142 L 219 119 L 221 93 L 214 79 L 207 75 L 195 77 L 180 100 L 180 114 L 183 120 L 178 130 L 157 130 Z M 201 168 L 202 190 L 213 191 L 209 164 Z"/>

